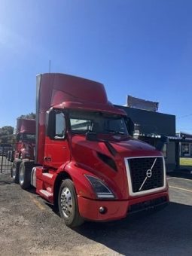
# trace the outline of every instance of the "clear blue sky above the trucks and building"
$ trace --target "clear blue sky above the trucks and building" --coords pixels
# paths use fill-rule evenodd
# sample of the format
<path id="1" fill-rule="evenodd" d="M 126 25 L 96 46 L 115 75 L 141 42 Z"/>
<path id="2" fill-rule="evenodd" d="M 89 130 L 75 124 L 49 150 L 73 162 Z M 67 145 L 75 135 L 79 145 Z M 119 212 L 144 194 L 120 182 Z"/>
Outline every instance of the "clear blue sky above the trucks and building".
<path id="1" fill-rule="evenodd" d="M 114 104 L 160 102 L 192 133 L 191 11 L 190 0 L 1 0 L 0 127 L 35 111 L 51 59 L 51 72 L 105 84 Z"/>

